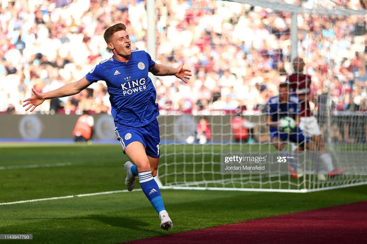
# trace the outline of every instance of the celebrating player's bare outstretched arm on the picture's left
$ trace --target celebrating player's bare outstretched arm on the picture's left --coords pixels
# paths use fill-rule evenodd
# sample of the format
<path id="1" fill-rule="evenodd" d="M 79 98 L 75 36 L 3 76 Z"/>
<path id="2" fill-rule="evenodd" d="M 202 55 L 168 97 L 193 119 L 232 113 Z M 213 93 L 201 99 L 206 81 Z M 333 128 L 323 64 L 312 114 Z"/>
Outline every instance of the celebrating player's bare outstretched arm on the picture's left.
<path id="1" fill-rule="evenodd" d="M 89 85 L 91 85 L 91 83 L 88 82 L 88 80 L 84 76 L 82 79 L 76 82 L 69 83 L 51 92 L 39 93 L 32 88 L 32 92 L 34 93 L 34 95 L 23 101 L 23 103 L 25 103 L 23 107 L 29 105 L 28 108 L 25 109 L 25 111 L 31 109 L 30 112 L 32 112 L 38 105 L 42 104 L 46 99 L 72 96 L 81 92 L 81 90 L 86 89 Z"/>

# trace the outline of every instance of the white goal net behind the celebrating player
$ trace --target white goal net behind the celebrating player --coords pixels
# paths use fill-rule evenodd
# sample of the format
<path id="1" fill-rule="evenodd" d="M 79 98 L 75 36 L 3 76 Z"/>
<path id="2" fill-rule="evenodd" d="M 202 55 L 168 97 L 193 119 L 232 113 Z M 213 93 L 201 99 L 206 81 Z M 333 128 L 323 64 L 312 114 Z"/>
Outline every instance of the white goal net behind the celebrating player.
<path id="1" fill-rule="evenodd" d="M 185 61 L 193 76 L 188 84 L 156 80 L 162 188 L 304 192 L 367 183 L 367 12 L 352 9 L 365 6 L 168 2 L 156 6 L 156 60 L 171 67 Z M 288 151 L 278 151 L 270 143 L 266 104 L 294 72 L 295 57 L 311 79 L 304 99 L 327 164 L 323 151 L 294 153 L 288 141 Z M 226 161 L 238 164 L 228 169 Z"/>

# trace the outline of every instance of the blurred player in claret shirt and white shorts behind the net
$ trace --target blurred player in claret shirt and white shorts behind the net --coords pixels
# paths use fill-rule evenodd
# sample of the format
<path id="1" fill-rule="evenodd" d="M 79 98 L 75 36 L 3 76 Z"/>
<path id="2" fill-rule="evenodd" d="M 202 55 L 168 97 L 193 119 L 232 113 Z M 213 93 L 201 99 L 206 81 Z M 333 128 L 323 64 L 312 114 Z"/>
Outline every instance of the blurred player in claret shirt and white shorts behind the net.
<path id="1" fill-rule="evenodd" d="M 302 58 L 296 57 L 293 59 L 294 73 L 288 75 L 287 82 L 290 84 L 290 93 L 297 95 L 301 100 L 301 114 L 299 128 L 301 128 L 310 139 L 315 142 L 316 149 L 320 151 L 320 159 L 325 164 L 328 172 L 328 177 L 334 177 L 345 171 L 345 169 L 337 169 L 333 166 L 333 159 L 326 151 L 319 123 L 316 116 L 312 115 L 310 110 L 311 96 L 311 76 L 304 74 L 305 63 Z M 317 175 L 320 180 L 326 180 L 323 174 Z"/>

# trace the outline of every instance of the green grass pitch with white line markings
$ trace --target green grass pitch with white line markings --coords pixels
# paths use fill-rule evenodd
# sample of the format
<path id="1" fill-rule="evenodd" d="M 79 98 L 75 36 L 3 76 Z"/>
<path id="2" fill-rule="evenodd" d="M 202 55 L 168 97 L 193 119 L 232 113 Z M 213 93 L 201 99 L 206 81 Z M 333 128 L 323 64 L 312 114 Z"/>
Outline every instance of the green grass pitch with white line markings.
<path id="1" fill-rule="evenodd" d="M 175 155 L 170 153 L 173 147 L 161 148 L 168 153 L 164 161 L 172 163 L 180 157 L 200 160 L 200 150 L 221 149 L 177 147 L 185 154 Z M 0 144 L 0 204 L 125 190 L 125 161 L 119 144 Z M 174 223 L 169 232 L 160 229 L 160 220 L 142 191 L 132 191 L 0 205 L 0 234 L 33 234 L 33 240 L 27 243 L 120 243 L 367 201 L 366 185 L 305 194 L 210 190 L 161 193 Z M 0 244 L 3 242 L 0 240 Z"/>

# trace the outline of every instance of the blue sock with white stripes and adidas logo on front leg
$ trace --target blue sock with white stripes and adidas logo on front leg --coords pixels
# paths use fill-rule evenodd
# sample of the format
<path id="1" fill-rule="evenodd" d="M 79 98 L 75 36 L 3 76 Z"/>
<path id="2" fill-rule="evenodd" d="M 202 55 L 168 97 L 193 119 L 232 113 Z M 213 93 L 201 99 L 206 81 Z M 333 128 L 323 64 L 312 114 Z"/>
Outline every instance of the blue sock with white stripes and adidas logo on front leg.
<path id="1" fill-rule="evenodd" d="M 163 200 L 160 194 L 157 182 L 152 176 L 152 171 L 143 171 L 139 173 L 139 183 L 144 194 L 156 209 L 157 213 L 164 210 Z"/>

